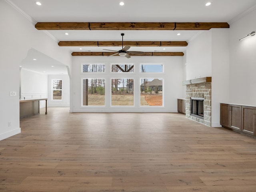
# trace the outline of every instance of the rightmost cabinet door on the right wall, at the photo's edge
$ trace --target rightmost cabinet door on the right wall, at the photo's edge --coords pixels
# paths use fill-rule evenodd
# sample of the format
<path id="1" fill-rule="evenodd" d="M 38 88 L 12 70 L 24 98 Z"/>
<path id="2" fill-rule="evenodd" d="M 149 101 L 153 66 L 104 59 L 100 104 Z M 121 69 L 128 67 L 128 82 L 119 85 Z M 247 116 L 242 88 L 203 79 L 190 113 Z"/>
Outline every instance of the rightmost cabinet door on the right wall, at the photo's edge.
<path id="1" fill-rule="evenodd" d="M 256 108 L 242 106 L 242 132 L 255 135 Z"/>

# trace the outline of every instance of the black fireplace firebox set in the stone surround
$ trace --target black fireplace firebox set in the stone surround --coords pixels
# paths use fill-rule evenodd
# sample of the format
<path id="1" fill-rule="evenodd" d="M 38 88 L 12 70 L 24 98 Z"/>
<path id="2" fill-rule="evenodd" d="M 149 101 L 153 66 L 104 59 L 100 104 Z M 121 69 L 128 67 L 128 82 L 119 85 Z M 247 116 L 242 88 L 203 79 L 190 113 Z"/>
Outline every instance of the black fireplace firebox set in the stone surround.
<path id="1" fill-rule="evenodd" d="M 204 98 L 191 97 L 190 115 L 204 119 Z"/>

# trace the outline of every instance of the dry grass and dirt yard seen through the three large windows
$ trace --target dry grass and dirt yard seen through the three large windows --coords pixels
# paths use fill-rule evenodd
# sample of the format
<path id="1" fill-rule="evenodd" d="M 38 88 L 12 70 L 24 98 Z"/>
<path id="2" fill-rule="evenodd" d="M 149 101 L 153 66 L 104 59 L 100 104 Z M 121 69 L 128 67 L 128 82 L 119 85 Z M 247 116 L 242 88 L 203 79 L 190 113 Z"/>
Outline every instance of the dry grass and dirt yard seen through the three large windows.
<path id="1" fill-rule="evenodd" d="M 130 94 L 112 95 L 112 106 L 133 106 L 134 96 Z M 104 106 L 105 96 L 98 94 L 88 95 L 89 106 Z M 162 106 L 162 94 L 140 94 L 141 106 Z"/>

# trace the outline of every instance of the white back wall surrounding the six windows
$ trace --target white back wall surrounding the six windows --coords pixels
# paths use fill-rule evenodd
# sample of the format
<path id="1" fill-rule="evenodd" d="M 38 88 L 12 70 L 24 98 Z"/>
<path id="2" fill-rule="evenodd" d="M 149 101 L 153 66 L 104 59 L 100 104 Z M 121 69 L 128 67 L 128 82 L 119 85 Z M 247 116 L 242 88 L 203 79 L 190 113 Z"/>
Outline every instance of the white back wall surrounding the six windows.
<path id="1" fill-rule="evenodd" d="M 133 56 L 129 59 L 113 56 L 113 57 L 103 57 L 103 56 L 74 56 L 73 66 L 72 66 L 72 106 L 70 110 L 72 112 L 177 112 L 177 98 L 182 98 L 182 60 L 181 56 Z M 110 104 L 106 104 L 106 107 L 90 107 L 81 105 L 82 100 L 82 78 L 90 78 L 90 74 L 82 74 L 81 64 L 86 62 L 103 62 L 106 64 L 106 70 L 110 71 L 111 62 L 128 62 L 134 63 L 134 74 L 129 74 L 133 76 L 134 82 L 138 86 L 134 86 L 134 97 L 139 98 L 140 96 L 140 82 L 139 77 L 155 77 L 158 78 L 159 75 L 155 74 L 140 74 L 139 68 L 140 63 L 162 63 L 164 64 L 164 73 L 162 74 L 164 78 L 164 107 L 140 107 L 139 103 L 135 103 L 135 107 L 110 107 Z M 125 74 L 120 74 L 120 76 L 125 76 Z M 113 77 L 111 73 L 106 73 L 106 80 L 110 81 Z M 106 98 L 110 98 L 110 89 L 107 89 L 106 82 Z"/>

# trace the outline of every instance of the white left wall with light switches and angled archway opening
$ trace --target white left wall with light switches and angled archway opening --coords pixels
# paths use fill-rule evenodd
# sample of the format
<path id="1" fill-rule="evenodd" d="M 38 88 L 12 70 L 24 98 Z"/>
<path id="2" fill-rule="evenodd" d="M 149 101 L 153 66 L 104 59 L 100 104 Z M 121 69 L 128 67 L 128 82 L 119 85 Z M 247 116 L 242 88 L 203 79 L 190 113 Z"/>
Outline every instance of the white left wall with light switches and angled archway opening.
<path id="1" fill-rule="evenodd" d="M 71 55 L 5 1 L 0 1 L 0 140 L 18 134 L 20 64 L 34 48 L 71 68 Z M 16 92 L 17 96 L 10 96 Z M 10 126 L 8 126 L 10 122 Z"/>

